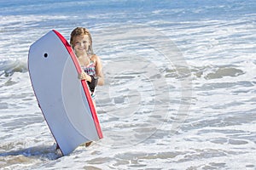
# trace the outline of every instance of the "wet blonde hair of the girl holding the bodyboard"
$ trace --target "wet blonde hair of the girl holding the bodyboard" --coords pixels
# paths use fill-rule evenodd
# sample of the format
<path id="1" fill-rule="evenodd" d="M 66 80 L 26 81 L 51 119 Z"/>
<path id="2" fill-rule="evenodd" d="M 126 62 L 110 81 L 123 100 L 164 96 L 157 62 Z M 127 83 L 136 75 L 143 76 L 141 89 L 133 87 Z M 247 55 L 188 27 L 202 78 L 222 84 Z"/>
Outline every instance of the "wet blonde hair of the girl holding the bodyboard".
<path id="1" fill-rule="evenodd" d="M 74 46 L 74 38 L 77 36 L 84 36 L 87 35 L 90 39 L 90 46 L 88 48 L 88 53 L 89 54 L 94 54 L 93 53 L 93 49 L 92 49 L 92 38 L 90 36 L 90 31 L 84 27 L 76 27 L 75 29 L 73 29 L 73 31 L 70 34 L 70 44 L 73 48 Z"/>

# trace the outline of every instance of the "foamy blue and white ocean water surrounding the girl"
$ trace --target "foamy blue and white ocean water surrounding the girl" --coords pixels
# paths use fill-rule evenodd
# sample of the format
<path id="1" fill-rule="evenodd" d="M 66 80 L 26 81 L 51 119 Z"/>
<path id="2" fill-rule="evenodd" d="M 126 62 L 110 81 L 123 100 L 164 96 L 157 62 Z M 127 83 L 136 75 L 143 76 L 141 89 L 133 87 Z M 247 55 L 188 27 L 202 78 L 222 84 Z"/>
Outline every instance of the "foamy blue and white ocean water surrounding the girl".
<path id="1" fill-rule="evenodd" d="M 0 169 L 256 169 L 256 2 L 0 0 Z M 104 138 L 69 156 L 27 71 L 32 42 L 90 29 Z"/>

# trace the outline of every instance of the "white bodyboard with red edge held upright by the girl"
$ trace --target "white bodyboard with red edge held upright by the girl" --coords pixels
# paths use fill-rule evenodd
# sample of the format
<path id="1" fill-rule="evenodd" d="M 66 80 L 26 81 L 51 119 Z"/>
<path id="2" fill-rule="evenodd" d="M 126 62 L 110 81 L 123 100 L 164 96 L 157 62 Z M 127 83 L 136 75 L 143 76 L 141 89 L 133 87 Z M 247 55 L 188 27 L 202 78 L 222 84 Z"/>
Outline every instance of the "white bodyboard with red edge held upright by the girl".
<path id="1" fill-rule="evenodd" d="M 78 78 L 79 62 L 58 31 L 49 31 L 32 44 L 28 70 L 38 105 L 62 155 L 102 139 L 89 88 Z"/>

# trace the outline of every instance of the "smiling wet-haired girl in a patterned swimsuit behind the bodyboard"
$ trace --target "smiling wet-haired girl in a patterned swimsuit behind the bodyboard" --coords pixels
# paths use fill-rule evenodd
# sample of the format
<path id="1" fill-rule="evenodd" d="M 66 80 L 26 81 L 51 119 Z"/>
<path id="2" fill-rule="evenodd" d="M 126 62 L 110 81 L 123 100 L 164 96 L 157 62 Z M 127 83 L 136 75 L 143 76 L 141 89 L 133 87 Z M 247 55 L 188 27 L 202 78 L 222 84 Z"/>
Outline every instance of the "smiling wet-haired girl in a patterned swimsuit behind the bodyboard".
<path id="1" fill-rule="evenodd" d="M 79 79 L 85 80 L 88 83 L 91 97 L 96 106 L 94 99 L 95 88 L 96 85 L 102 86 L 104 84 L 104 77 L 102 73 L 102 61 L 93 53 L 90 32 L 83 27 L 75 28 L 70 35 L 70 44 L 83 69 L 82 73 L 79 74 Z"/>

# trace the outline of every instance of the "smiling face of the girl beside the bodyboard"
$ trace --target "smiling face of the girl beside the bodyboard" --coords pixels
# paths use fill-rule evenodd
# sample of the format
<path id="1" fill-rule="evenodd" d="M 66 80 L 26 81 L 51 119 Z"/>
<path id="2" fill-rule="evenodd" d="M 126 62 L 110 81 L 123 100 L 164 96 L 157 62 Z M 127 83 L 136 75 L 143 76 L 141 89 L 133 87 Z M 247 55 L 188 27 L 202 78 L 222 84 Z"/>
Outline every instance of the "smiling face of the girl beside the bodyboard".
<path id="1" fill-rule="evenodd" d="M 73 48 L 77 55 L 87 54 L 90 46 L 90 39 L 87 35 L 74 37 Z"/>

